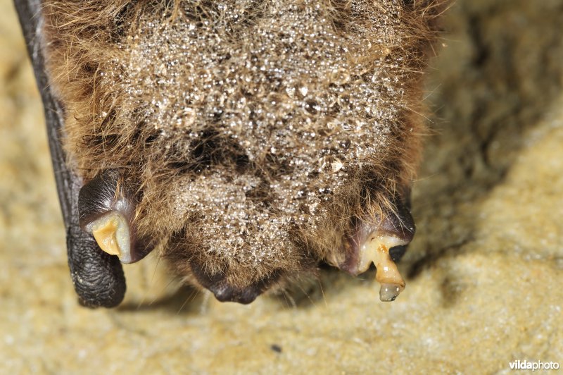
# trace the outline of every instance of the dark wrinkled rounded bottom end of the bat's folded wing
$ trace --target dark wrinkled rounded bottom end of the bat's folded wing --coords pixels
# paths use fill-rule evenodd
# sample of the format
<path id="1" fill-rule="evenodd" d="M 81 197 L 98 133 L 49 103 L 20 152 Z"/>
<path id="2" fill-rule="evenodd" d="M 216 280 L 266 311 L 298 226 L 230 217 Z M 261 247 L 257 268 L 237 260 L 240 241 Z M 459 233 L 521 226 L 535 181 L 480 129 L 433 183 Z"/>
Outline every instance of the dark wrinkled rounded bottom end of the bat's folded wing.
<path id="1" fill-rule="evenodd" d="M 116 307 L 125 296 L 125 275 L 115 255 L 103 252 L 80 227 L 67 233 L 68 266 L 81 305 Z"/>

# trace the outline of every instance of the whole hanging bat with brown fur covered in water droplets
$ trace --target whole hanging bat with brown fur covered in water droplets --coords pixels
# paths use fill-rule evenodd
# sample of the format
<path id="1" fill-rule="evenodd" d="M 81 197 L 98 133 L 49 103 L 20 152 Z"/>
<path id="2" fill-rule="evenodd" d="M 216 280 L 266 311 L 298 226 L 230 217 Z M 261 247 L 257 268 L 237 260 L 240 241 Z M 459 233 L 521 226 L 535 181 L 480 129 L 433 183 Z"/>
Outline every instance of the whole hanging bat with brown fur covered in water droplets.
<path id="1" fill-rule="evenodd" d="M 155 249 L 220 301 L 321 263 L 395 300 L 444 4 L 15 0 L 79 302 L 119 305 Z"/>

